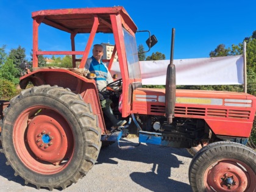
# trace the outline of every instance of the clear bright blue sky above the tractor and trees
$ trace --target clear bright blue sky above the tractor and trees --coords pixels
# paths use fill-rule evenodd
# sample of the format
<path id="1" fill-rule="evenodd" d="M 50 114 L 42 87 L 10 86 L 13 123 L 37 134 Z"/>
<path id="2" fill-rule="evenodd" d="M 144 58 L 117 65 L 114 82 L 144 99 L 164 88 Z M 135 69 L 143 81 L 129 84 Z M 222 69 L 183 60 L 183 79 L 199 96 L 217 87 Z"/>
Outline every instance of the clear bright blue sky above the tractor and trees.
<path id="1" fill-rule="evenodd" d="M 157 37 L 158 43 L 147 56 L 158 51 L 169 59 L 172 27 L 176 29 L 174 59 L 209 57 L 210 51 L 213 51 L 218 44 L 225 44 L 226 48 L 231 47 L 232 44 L 241 43 L 244 37 L 251 36 L 256 30 L 255 0 L 0 0 L 0 46 L 6 44 L 6 51 L 9 52 L 10 49 L 16 49 L 21 45 L 26 49 L 27 59 L 30 60 L 32 12 L 45 9 L 115 5 L 121 5 L 127 10 L 138 30 L 150 30 L 151 34 Z M 61 33 L 52 39 L 48 35 L 40 36 L 39 48 L 45 51 L 49 49 L 69 51 L 69 41 L 63 40 L 65 35 Z M 143 44 L 144 40 L 146 40 L 145 37 L 142 39 L 138 35 L 137 45 Z M 54 45 L 45 43 L 49 41 Z M 99 41 L 105 43 L 108 40 Z M 82 40 L 80 47 L 76 47 L 77 51 L 83 51 L 85 43 L 86 41 Z"/>

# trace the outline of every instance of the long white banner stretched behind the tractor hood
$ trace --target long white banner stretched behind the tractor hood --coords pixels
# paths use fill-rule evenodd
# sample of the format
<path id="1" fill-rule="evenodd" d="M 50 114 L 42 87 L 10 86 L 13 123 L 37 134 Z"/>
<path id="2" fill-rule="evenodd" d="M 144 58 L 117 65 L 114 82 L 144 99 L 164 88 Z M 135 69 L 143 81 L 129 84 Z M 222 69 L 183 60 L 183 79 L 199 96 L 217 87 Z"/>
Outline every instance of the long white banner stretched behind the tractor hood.
<path id="1" fill-rule="evenodd" d="M 141 61 L 143 85 L 165 85 L 169 60 Z M 177 59 L 176 85 L 237 85 L 243 84 L 243 55 L 199 59 Z M 118 62 L 110 71 L 119 73 Z"/>

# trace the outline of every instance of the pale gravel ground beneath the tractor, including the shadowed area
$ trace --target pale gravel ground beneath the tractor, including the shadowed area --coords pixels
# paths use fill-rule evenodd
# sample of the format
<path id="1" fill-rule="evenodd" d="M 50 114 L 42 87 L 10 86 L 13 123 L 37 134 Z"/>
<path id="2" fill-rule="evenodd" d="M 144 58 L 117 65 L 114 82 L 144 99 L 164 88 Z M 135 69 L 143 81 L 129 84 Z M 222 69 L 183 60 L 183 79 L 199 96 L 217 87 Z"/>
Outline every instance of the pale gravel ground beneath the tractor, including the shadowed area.
<path id="1" fill-rule="evenodd" d="M 138 143 L 138 138 L 120 141 L 121 146 L 134 143 Z M 24 180 L 20 176 L 15 177 L 13 169 L 5 162 L 4 154 L 0 153 L 0 191 L 48 191 L 24 185 Z M 190 192 L 190 162 L 191 156 L 186 149 L 141 143 L 137 148 L 122 150 L 118 143 L 114 143 L 101 149 L 98 161 L 87 176 L 65 190 L 53 191 Z"/>

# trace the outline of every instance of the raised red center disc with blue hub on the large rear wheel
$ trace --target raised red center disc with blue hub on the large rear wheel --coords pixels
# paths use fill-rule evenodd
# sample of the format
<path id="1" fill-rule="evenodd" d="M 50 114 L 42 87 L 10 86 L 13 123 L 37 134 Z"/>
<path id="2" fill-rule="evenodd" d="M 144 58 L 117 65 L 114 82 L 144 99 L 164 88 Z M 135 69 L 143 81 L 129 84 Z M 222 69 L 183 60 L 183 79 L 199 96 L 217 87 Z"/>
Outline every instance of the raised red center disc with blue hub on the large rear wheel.
<path id="1" fill-rule="evenodd" d="M 58 113 L 44 113 L 29 120 L 27 142 L 40 160 L 59 165 L 68 151 L 68 130 Z"/>

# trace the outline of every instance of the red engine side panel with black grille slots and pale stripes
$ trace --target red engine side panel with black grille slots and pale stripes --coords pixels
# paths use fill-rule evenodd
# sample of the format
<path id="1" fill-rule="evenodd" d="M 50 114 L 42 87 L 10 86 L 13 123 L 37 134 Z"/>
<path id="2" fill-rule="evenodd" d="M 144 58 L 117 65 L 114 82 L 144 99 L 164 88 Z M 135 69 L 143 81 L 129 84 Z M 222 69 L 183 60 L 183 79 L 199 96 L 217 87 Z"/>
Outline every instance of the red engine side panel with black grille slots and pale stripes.
<path id="1" fill-rule="evenodd" d="M 249 137 L 255 110 L 256 98 L 251 94 L 176 90 L 174 116 L 205 119 L 216 135 Z M 134 90 L 132 113 L 165 116 L 165 90 Z"/>

